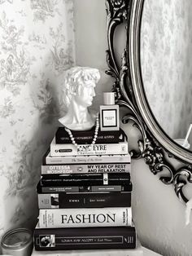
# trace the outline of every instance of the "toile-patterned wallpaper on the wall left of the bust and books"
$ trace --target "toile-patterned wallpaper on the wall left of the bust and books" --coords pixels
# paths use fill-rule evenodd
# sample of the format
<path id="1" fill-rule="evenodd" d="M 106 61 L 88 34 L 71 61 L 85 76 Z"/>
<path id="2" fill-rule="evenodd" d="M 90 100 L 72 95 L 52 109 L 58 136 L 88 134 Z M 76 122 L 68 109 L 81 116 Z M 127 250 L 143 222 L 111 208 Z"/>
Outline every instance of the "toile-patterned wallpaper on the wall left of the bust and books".
<path id="1" fill-rule="evenodd" d="M 72 0 L 0 1 L 0 238 L 33 227 L 41 157 L 63 114 L 74 65 Z"/>

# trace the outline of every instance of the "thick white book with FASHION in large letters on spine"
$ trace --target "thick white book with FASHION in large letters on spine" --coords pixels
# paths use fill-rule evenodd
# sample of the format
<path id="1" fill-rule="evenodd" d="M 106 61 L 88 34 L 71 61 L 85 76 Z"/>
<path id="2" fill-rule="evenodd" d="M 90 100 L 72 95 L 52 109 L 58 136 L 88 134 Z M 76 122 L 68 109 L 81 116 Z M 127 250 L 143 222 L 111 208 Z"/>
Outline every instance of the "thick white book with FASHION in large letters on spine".
<path id="1" fill-rule="evenodd" d="M 129 227 L 131 207 L 40 209 L 39 227 Z"/>

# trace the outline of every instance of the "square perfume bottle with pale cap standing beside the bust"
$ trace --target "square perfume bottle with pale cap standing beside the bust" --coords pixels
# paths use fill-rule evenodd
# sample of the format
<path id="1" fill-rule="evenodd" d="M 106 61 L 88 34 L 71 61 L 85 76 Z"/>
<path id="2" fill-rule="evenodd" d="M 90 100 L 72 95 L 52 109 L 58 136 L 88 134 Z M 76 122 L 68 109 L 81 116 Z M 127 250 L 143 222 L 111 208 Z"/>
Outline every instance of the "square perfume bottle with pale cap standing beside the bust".
<path id="1" fill-rule="evenodd" d="M 103 92 L 104 105 L 100 106 L 100 130 L 120 130 L 119 105 L 115 92 Z"/>

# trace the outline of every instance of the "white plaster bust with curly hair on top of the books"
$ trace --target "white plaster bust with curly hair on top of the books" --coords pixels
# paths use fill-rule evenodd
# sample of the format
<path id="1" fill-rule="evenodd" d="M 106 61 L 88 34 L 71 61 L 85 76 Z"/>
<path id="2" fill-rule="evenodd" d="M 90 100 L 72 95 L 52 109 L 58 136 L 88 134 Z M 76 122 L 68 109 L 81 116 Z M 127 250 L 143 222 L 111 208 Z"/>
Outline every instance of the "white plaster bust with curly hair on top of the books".
<path id="1" fill-rule="evenodd" d="M 94 87 L 100 74 L 97 68 L 74 67 L 68 69 L 63 82 L 63 103 L 67 108 L 59 122 L 70 130 L 89 130 L 96 116 L 89 113 L 95 96 Z"/>

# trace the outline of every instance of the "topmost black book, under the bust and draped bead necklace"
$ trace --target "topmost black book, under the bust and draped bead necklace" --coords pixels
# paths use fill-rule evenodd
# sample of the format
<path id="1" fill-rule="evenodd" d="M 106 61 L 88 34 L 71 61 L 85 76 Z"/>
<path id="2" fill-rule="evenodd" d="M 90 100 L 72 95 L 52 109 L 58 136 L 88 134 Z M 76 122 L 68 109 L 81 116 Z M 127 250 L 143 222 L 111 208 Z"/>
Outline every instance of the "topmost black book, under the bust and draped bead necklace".
<path id="1" fill-rule="evenodd" d="M 72 136 L 76 140 L 77 144 L 90 144 L 94 139 L 95 126 L 91 130 L 73 130 Z M 127 136 L 124 134 L 124 130 L 98 130 L 97 143 L 119 143 L 124 142 Z M 59 127 L 55 134 L 55 142 L 57 144 L 72 143 L 68 132 L 64 127 Z"/>

